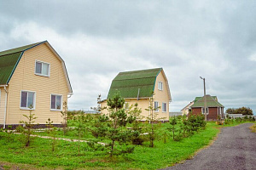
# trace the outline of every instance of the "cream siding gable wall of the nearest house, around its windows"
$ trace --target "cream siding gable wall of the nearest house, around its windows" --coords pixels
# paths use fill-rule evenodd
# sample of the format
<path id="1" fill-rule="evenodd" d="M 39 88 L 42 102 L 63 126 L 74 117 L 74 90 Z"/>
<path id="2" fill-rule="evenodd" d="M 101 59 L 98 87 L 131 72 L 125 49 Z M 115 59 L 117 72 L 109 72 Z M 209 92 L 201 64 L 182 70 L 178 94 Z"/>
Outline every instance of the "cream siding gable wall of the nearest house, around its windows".
<path id="1" fill-rule="evenodd" d="M 34 74 L 36 59 L 50 64 L 49 77 Z M 50 94 L 61 94 L 62 102 L 67 101 L 67 82 L 61 60 L 45 44 L 26 50 L 16 67 L 9 82 L 7 124 L 24 121 L 26 119 L 22 115 L 29 114 L 29 111 L 20 109 L 21 90 L 36 92 L 35 110 L 32 111 L 38 117 L 36 123 L 45 124 L 48 118 L 54 124 L 62 122 L 60 111 L 50 111 Z"/>

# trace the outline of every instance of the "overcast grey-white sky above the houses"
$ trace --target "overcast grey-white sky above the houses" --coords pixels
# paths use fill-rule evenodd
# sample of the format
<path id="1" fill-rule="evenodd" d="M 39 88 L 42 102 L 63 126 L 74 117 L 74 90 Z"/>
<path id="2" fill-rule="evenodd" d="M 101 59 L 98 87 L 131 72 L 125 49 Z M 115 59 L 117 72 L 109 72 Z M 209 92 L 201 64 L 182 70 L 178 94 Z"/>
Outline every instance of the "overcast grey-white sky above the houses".
<path id="1" fill-rule="evenodd" d="M 0 51 L 48 42 L 73 87 L 69 109 L 105 99 L 120 71 L 162 67 L 171 111 L 195 96 L 256 113 L 256 1 L 3 1 Z"/>

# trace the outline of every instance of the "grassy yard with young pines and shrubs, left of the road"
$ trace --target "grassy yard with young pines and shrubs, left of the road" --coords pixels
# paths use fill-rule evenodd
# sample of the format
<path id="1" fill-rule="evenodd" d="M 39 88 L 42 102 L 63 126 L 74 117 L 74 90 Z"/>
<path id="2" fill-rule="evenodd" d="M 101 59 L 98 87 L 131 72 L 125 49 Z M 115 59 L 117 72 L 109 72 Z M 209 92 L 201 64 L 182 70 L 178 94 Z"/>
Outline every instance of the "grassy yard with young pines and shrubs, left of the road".
<path id="1" fill-rule="evenodd" d="M 25 122 L 30 128 L 25 131 L 18 128 L 25 133 L 0 130 L 0 165 L 3 161 L 5 166 L 23 164 L 32 169 L 158 169 L 194 156 L 197 150 L 211 143 L 220 127 L 249 120 L 228 118 L 225 125 L 219 126 L 215 122 L 206 123 L 203 116 L 177 116 L 171 117 L 170 123 L 153 123 L 151 115 L 150 123 L 142 123 L 137 105 L 129 109 L 124 105 L 125 100 L 115 94 L 108 99 L 108 116 L 67 111 L 63 116 L 65 128 L 53 127 L 49 119 L 45 132 L 33 132 L 36 117 L 30 111 Z M 153 111 L 153 106 L 148 109 Z M 49 139 L 32 137 L 32 133 Z M 24 137 L 26 145 L 22 142 Z M 31 139 L 33 142 L 27 144 Z"/>

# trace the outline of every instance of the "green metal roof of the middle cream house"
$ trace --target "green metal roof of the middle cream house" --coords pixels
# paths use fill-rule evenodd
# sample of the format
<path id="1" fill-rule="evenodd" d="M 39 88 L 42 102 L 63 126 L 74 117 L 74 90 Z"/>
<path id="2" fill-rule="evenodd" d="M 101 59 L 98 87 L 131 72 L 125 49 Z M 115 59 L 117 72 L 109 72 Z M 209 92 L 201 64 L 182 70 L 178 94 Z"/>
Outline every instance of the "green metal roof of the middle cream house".
<path id="1" fill-rule="evenodd" d="M 162 68 L 119 72 L 112 81 L 108 99 L 117 91 L 124 98 L 137 98 L 138 94 L 139 98 L 152 97 L 155 80 L 160 71 Z"/>

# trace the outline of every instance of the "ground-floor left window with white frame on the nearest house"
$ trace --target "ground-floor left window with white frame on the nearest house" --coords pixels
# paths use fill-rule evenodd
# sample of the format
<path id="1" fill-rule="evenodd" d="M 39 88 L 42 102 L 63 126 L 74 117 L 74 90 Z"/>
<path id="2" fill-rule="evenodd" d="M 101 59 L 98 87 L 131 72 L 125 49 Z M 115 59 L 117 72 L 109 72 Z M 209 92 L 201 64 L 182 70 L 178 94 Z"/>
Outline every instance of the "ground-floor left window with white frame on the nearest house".
<path id="1" fill-rule="evenodd" d="M 27 90 L 21 90 L 20 92 L 20 109 L 23 110 L 35 110 L 36 105 L 36 93 Z"/>

